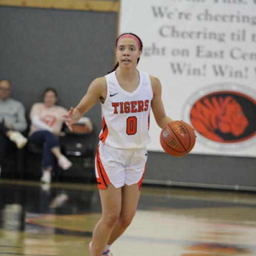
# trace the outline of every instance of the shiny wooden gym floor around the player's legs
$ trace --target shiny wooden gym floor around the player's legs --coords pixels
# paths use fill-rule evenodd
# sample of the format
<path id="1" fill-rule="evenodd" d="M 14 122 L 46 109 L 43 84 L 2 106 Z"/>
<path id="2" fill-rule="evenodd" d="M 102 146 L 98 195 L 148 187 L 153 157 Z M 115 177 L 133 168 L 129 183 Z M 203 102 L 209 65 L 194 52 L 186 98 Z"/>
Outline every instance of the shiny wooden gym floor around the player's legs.
<path id="1" fill-rule="evenodd" d="M 0 180 L 0 255 L 86 256 L 95 185 Z M 146 187 L 114 256 L 256 255 L 256 195 Z"/>

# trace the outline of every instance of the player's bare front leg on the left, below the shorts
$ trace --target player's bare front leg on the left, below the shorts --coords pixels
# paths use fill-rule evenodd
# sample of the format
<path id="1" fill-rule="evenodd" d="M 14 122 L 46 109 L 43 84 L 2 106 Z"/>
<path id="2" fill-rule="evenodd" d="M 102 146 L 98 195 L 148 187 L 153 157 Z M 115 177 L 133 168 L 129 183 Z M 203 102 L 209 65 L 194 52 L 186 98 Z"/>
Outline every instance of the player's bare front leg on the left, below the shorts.
<path id="1" fill-rule="evenodd" d="M 93 230 L 91 254 L 102 256 L 103 250 L 110 238 L 121 211 L 121 187 L 115 188 L 112 184 L 107 189 L 100 189 L 102 217 Z"/>

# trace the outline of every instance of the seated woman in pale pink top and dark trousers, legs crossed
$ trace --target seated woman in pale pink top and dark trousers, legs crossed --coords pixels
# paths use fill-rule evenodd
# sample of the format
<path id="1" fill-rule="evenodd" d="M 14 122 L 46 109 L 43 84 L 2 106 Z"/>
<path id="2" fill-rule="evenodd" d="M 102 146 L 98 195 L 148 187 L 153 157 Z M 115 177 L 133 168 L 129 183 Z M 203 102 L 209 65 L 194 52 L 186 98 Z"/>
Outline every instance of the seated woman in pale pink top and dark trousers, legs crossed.
<path id="1" fill-rule="evenodd" d="M 62 117 L 68 111 L 62 106 L 55 105 L 57 92 L 53 88 L 47 88 L 44 92 L 44 102 L 34 103 L 30 111 L 31 127 L 29 141 L 43 146 L 42 177 L 41 181 L 51 182 L 51 171 L 54 165 L 54 157 L 62 169 L 69 169 L 72 163 L 60 152 L 59 136 L 64 122 Z"/>

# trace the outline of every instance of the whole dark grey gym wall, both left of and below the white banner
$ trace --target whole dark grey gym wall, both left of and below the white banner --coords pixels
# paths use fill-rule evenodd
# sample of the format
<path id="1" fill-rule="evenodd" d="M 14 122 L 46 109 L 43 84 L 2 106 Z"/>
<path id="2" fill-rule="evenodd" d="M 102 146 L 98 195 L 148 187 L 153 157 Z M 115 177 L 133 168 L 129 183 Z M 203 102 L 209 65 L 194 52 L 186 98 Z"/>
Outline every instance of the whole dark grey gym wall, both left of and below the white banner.
<path id="1" fill-rule="evenodd" d="M 0 7 L 1 78 L 27 114 L 42 101 L 46 87 L 58 91 L 58 104 L 70 108 L 90 82 L 114 65 L 118 13 L 88 10 Z M 99 103 L 87 114 L 101 129 Z M 153 117 L 152 117 L 153 118 Z M 256 190 L 256 159 L 148 152 L 145 183 Z"/>

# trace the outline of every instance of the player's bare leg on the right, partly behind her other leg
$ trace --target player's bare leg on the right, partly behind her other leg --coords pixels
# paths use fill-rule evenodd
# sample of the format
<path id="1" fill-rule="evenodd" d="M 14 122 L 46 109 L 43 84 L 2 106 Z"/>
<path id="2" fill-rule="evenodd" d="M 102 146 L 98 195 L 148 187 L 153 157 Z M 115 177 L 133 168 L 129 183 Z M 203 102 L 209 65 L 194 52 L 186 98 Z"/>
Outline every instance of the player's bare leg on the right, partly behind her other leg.
<path id="1" fill-rule="evenodd" d="M 113 244 L 131 224 L 139 202 L 140 190 L 138 184 L 122 187 L 122 207 L 119 219 L 109 238 L 108 244 Z"/>

